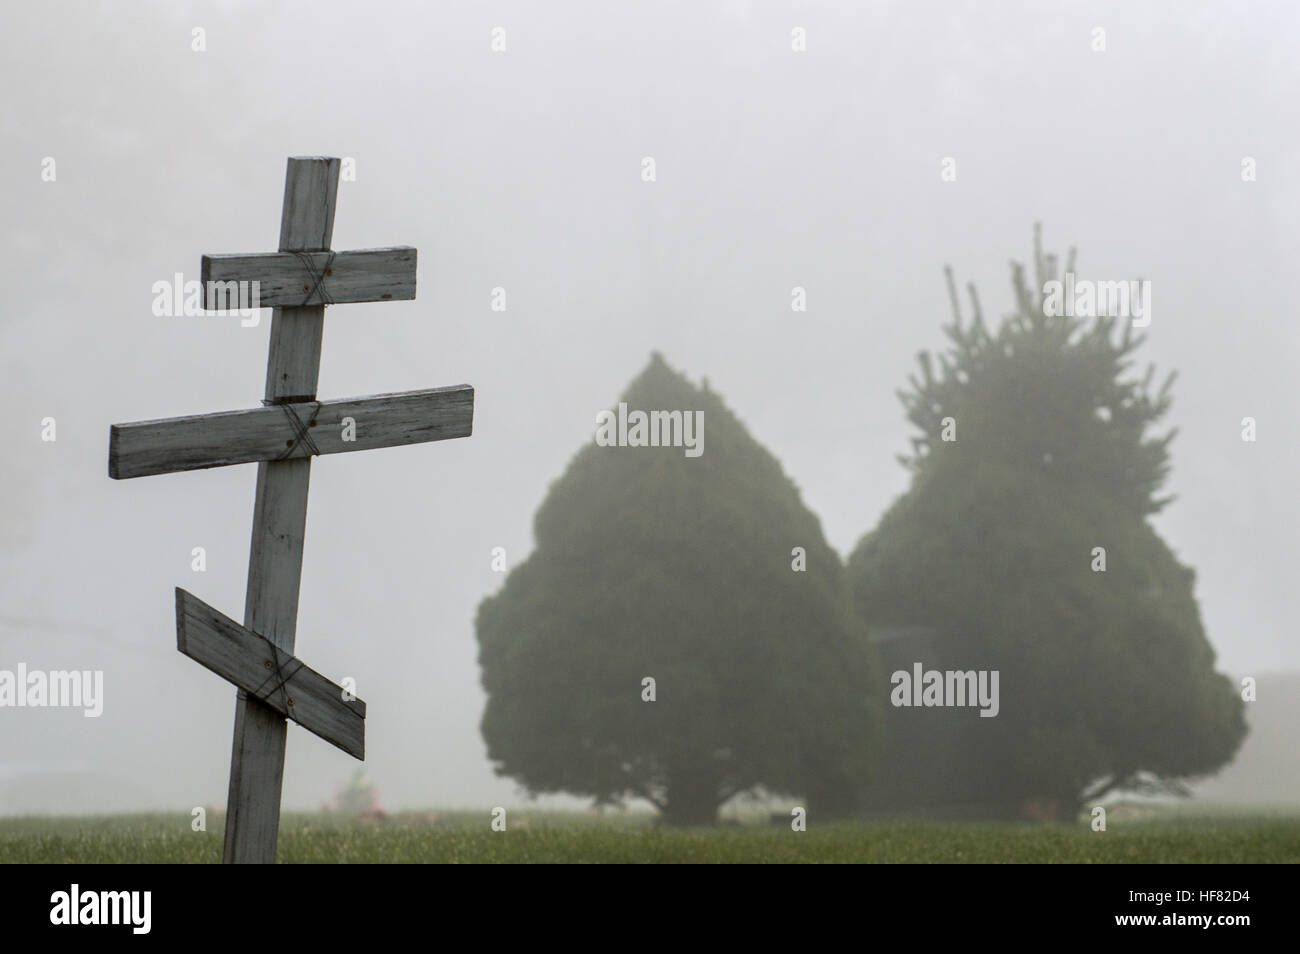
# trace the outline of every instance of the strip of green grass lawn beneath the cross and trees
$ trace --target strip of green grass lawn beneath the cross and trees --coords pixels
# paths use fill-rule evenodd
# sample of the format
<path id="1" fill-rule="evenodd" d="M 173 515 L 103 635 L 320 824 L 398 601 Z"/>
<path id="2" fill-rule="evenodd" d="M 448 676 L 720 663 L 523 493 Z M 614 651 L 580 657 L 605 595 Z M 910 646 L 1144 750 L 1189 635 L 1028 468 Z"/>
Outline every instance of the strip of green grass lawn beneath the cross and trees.
<path id="1" fill-rule="evenodd" d="M 1118 815 L 1118 818 L 1117 818 Z M 529 812 L 494 832 L 486 812 L 350 823 L 286 815 L 281 862 L 1300 862 L 1300 815 L 1143 810 L 1112 812 L 1106 832 L 1087 823 L 941 824 L 753 823 L 659 829 L 647 815 Z M 190 829 L 188 815 L 0 819 L 0 863 L 220 862 L 221 819 Z"/>

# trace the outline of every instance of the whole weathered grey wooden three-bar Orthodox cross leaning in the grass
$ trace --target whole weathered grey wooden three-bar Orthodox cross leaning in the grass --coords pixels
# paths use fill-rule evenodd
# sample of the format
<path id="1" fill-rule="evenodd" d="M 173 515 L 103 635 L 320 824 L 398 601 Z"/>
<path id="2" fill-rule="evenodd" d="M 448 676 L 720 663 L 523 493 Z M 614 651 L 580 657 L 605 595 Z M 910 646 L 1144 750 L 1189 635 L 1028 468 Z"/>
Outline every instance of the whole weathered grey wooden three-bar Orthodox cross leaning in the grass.
<path id="1" fill-rule="evenodd" d="M 416 286 L 415 248 L 330 251 L 338 170 L 337 159 L 289 160 L 278 252 L 203 256 L 204 308 L 242 281 L 257 282 L 256 304 L 274 308 L 265 407 L 116 424 L 109 434 L 114 480 L 257 461 L 243 625 L 176 590 L 177 649 L 239 689 L 228 863 L 276 860 L 286 717 L 365 756 L 365 703 L 294 655 L 312 456 L 473 429 L 469 385 L 316 400 L 325 305 L 410 300 Z"/>

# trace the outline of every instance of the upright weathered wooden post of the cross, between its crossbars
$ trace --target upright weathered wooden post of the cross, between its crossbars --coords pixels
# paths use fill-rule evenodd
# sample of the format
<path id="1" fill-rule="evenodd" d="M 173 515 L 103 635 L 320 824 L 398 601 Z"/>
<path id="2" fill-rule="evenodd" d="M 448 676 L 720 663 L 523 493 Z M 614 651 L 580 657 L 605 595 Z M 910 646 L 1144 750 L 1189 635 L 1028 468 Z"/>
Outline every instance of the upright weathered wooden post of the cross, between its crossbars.
<path id="1" fill-rule="evenodd" d="M 329 248 L 338 199 L 338 159 L 290 159 L 280 216 L 280 251 Z M 266 356 L 266 400 L 316 396 L 325 307 L 276 308 Z M 294 651 L 298 586 L 303 573 L 311 458 L 257 464 L 248 552 L 244 626 L 285 652 Z M 270 864 L 280 836 L 286 723 L 276 710 L 239 690 L 226 797 L 222 860 Z"/>

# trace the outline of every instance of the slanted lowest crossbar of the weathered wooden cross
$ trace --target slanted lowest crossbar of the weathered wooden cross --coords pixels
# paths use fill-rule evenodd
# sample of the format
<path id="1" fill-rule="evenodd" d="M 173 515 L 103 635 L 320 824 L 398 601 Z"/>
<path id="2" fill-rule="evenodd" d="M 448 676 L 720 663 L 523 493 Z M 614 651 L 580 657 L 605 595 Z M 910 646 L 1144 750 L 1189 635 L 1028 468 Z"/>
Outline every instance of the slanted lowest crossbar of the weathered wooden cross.
<path id="1" fill-rule="evenodd" d="M 259 699 L 348 755 L 365 758 L 364 702 L 344 699 L 342 686 L 179 586 L 176 647 L 234 682 L 246 697 Z"/>

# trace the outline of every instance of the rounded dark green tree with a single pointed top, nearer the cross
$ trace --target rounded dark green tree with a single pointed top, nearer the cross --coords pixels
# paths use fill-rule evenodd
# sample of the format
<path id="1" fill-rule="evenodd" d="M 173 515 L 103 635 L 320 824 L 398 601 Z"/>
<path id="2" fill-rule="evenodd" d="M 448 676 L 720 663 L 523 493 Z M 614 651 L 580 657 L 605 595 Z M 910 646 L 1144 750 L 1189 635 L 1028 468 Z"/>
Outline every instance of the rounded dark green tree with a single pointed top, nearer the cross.
<path id="1" fill-rule="evenodd" d="M 852 808 L 880 682 L 840 558 L 707 387 L 656 355 L 623 400 L 703 411 L 703 454 L 592 443 L 551 486 L 536 551 L 478 610 L 489 758 L 532 792 L 640 795 L 675 823 L 755 786 Z"/>

